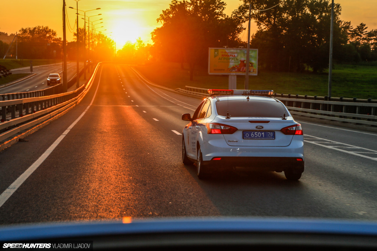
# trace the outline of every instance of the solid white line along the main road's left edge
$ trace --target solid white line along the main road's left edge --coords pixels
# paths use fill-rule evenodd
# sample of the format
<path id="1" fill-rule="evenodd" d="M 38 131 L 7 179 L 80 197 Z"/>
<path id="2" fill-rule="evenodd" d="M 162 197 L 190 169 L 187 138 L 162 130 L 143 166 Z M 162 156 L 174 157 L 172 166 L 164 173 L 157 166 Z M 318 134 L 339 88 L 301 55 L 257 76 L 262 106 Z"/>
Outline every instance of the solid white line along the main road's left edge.
<path id="1" fill-rule="evenodd" d="M 100 79 L 101 79 L 101 73 L 100 72 Z M 41 155 L 41 157 L 38 158 L 24 173 L 20 175 L 20 177 L 17 178 L 1 195 L 0 195 L 0 207 L 9 199 L 9 197 L 12 196 L 12 194 L 24 183 L 24 181 L 40 166 L 40 164 L 43 163 L 44 160 L 51 154 L 52 151 L 59 145 L 60 141 L 63 140 L 63 138 L 67 135 L 67 133 L 72 129 L 76 123 L 84 116 L 86 111 L 89 109 L 89 107 L 92 105 L 94 98 L 97 94 L 98 87 L 100 86 L 100 83 L 98 82 L 97 89 L 95 90 L 92 102 L 90 102 L 89 106 L 85 109 L 85 111 L 78 117 L 75 122 L 73 122 L 58 138 L 55 140 L 54 143 Z"/>

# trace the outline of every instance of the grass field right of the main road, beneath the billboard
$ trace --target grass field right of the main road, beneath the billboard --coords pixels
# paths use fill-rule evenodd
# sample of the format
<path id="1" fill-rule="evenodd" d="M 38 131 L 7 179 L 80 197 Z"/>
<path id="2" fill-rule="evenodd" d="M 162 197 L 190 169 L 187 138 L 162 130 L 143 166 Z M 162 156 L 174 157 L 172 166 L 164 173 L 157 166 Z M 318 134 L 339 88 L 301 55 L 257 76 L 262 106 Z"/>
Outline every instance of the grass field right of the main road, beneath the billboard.
<path id="1" fill-rule="evenodd" d="M 207 69 L 196 70 L 194 80 L 189 80 L 188 67 L 171 62 L 150 63 L 135 67 L 156 84 L 169 88 L 228 88 L 228 76 L 208 75 Z M 333 67 L 333 97 L 357 97 L 377 99 L 377 66 L 336 64 Z M 237 76 L 237 88 L 244 89 L 244 76 Z M 249 88 L 274 90 L 274 93 L 326 96 L 328 73 L 287 73 L 258 70 L 258 76 L 250 76 Z"/>

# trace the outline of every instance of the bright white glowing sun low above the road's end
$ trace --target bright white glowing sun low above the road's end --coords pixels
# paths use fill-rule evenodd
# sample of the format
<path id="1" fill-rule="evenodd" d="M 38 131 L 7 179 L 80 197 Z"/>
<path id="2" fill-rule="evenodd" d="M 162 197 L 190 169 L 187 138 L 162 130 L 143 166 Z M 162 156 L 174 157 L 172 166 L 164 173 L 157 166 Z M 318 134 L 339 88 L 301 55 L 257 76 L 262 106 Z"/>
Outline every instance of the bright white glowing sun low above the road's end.
<path id="1" fill-rule="evenodd" d="M 122 20 L 114 28 L 112 33 L 113 40 L 115 40 L 117 47 L 123 46 L 127 41 L 135 43 L 142 35 L 142 27 L 134 20 Z"/>

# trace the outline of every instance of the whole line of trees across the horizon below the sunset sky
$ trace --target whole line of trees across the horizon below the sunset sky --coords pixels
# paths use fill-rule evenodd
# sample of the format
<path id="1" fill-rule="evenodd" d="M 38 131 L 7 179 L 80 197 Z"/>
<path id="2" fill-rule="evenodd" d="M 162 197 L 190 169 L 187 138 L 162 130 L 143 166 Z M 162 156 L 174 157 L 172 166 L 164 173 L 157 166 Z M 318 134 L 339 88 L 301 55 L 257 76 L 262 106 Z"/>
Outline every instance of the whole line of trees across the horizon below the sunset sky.
<path id="1" fill-rule="evenodd" d="M 259 69 L 320 72 L 328 68 L 329 0 L 242 0 L 241 3 L 228 16 L 224 13 L 226 4 L 221 0 L 172 0 L 169 8 L 157 18 L 162 25 L 152 32 L 153 45 L 145 45 L 140 39 L 136 43 L 127 42 L 117 52 L 116 59 L 134 63 L 178 62 L 182 68 L 188 65 L 192 79 L 195 67 L 207 68 L 208 47 L 246 46 L 241 38 L 245 37 L 244 24 L 251 3 L 251 19 L 257 24 L 256 33 L 251 35 L 251 48 L 259 50 Z M 368 29 L 365 23 L 354 27 L 351 22 L 341 20 L 340 13 L 341 6 L 337 3 L 334 6 L 334 60 L 342 63 L 377 61 L 377 29 Z M 48 27 L 25 28 L 19 32 L 19 42 L 25 43 L 20 53 L 25 58 L 51 57 L 51 44 L 61 46 L 61 39 Z M 84 46 L 82 35 L 83 29 L 78 38 L 80 48 Z M 93 51 L 98 50 L 97 54 L 107 56 L 108 60 L 115 52 L 113 41 L 101 33 L 95 40 Z M 76 43 L 77 39 L 68 43 L 70 59 L 76 57 Z M 5 53 L 3 47 L 0 43 L 0 53 Z"/>

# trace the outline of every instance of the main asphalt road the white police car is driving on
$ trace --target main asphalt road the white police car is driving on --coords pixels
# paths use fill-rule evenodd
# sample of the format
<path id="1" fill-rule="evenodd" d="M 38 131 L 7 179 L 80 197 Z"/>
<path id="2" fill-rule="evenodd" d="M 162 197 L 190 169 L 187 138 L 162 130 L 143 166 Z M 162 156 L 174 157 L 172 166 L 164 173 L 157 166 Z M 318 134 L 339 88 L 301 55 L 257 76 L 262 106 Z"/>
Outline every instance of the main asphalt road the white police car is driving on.
<path id="1" fill-rule="evenodd" d="M 61 139 L 0 207 L 0 224 L 124 216 L 377 219 L 377 134 L 302 121 L 299 181 L 248 170 L 202 181 L 195 166 L 182 164 L 179 135 L 181 114 L 199 102 L 145 84 L 126 65 L 105 64 L 80 105 L 0 152 L 4 194 Z"/>

